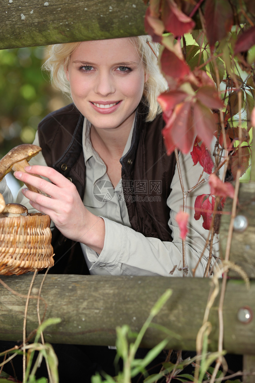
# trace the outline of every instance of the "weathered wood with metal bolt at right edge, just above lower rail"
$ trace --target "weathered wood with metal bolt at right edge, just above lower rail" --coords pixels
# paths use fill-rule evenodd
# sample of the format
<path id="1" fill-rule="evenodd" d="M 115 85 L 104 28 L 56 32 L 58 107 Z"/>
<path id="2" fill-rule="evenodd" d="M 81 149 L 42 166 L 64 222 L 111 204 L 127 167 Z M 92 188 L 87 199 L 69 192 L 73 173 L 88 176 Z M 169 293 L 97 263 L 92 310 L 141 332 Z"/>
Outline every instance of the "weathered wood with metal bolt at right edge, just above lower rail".
<path id="1" fill-rule="evenodd" d="M 238 199 L 229 259 L 244 270 L 249 278 L 255 278 L 255 182 L 241 183 Z M 227 200 L 225 213 L 231 212 L 232 201 Z M 230 214 L 223 214 L 221 217 L 220 252 L 223 259 L 230 219 Z M 229 275 L 238 276 L 238 273 L 230 270 Z"/>

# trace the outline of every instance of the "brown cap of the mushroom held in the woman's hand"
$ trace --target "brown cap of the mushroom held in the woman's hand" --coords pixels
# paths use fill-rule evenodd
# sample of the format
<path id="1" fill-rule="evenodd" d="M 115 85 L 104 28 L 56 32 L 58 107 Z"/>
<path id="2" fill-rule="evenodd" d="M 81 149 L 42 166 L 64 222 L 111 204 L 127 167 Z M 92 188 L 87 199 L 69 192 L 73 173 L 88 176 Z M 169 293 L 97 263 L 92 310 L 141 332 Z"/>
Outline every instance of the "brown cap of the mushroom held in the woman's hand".
<path id="1" fill-rule="evenodd" d="M 29 161 L 41 152 L 41 147 L 33 144 L 21 144 L 15 146 L 0 160 L 0 181 L 9 173 L 16 162 Z"/>

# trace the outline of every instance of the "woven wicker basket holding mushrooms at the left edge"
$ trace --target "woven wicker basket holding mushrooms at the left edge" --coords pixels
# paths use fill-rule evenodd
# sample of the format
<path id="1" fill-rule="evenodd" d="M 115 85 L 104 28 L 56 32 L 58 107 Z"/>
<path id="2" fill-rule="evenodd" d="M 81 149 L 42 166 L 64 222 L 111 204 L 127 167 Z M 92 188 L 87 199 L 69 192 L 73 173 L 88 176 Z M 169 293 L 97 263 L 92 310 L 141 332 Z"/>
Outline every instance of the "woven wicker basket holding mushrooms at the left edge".
<path id="1" fill-rule="evenodd" d="M 48 215 L 0 218 L 0 274 L 42 270 L 54 265 L 53 255 Z"/>

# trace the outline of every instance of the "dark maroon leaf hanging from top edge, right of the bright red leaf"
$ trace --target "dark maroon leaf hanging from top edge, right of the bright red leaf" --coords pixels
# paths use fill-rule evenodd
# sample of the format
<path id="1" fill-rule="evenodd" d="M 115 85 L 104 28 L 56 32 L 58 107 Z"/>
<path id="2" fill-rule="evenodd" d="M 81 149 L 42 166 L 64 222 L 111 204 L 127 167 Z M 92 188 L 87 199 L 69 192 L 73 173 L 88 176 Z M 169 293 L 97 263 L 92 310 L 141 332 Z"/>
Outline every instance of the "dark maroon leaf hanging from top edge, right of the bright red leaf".
<path id="1" fill-rule="evenodd" d="M 206 0 L 206 34 L 210 47 L 227 36 L 233 25 L 233 12 L 228 1 Z"/>

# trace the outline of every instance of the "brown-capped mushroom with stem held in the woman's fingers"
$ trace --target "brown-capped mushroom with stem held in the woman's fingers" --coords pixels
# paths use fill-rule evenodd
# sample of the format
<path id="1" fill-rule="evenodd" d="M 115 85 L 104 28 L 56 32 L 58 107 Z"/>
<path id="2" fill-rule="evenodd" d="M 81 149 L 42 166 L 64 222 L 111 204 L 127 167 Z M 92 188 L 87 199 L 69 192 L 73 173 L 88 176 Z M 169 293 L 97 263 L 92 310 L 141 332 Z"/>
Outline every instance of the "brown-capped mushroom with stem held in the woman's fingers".
<path id="1" fill-rule="evenodd" d="M 41 147 L 33 144 L 21 144 L 11 149 L 10 152 L 8 152 L 0 160 L 0 181 L 11 170 L 14 170 L 15 172 L 20 170 L 21 172 L 27 173 L 24 168 L 29 165 L 28 161 L 36 154 L 41 152 L 41 150 Z M 38 174 L 32 175 L 42 178 Z M 36 193 L 40 193 L 49 197 L 49 195 L 33 187 L 32 185 L 29 185 L 28 183 L 26 183 L 26 186 L 29 190 L 35 191 Z"/>

